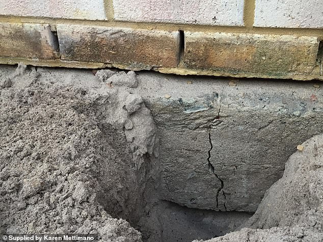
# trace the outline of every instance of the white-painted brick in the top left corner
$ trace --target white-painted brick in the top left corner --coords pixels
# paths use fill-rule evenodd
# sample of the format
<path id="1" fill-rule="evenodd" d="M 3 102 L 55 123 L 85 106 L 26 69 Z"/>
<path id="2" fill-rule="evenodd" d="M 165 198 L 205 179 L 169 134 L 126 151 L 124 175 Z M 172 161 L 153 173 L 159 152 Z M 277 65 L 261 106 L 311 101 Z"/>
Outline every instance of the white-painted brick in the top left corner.
<path id="1" fill-rule="evenodd" d="M 0 0 L 0 15 L 104 20 L 103 0 Z"/>

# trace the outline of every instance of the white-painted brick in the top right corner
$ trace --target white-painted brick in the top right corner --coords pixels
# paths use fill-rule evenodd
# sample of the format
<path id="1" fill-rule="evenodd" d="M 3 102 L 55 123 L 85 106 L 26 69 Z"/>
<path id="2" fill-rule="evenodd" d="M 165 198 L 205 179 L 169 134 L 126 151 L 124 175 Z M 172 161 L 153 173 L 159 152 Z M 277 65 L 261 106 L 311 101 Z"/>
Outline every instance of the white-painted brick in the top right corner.
<path id="1" fill-rule="evenodd" d="M 321 0 L 256 0 L 256 27 L 323 28 Z"/>

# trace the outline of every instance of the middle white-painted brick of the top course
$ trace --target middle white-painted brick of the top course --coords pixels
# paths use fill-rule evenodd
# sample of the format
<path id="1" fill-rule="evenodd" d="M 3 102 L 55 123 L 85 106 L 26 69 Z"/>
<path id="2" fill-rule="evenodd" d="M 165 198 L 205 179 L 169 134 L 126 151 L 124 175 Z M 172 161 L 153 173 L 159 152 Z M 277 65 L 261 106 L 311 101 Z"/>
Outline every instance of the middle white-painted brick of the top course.
<path id="1" fill-rule="evenodd" d="M 244 0 L 114 0 L 115 19 L 207 25 L 243 25 Z"/>

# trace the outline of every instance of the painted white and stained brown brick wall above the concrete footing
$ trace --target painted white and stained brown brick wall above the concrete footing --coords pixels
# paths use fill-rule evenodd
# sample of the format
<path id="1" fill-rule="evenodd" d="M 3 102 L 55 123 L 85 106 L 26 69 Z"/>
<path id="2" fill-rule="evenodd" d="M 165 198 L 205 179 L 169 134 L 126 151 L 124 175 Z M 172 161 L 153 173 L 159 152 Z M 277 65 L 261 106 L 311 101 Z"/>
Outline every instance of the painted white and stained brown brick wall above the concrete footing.
<path id="1" fill-rule="evenodd" d="M 0 63 L 322 79 L 322 0 L 0 0 Z"/>

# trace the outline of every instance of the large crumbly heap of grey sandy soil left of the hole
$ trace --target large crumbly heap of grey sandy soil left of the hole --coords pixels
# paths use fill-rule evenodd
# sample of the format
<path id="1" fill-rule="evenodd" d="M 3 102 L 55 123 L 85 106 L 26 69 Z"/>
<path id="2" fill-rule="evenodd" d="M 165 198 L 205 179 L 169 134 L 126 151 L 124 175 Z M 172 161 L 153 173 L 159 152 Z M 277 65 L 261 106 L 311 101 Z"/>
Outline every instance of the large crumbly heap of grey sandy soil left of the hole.
<path id="1" fill-rule="evenodd" d="M 0 233 L 141 241 L 113 218 L 143 213 L 158 156 L 150 111 L 131 94 L 136 74 L 101 71 L 95 83 L 41 74 L 19 65 L 0 76 Z"/>

